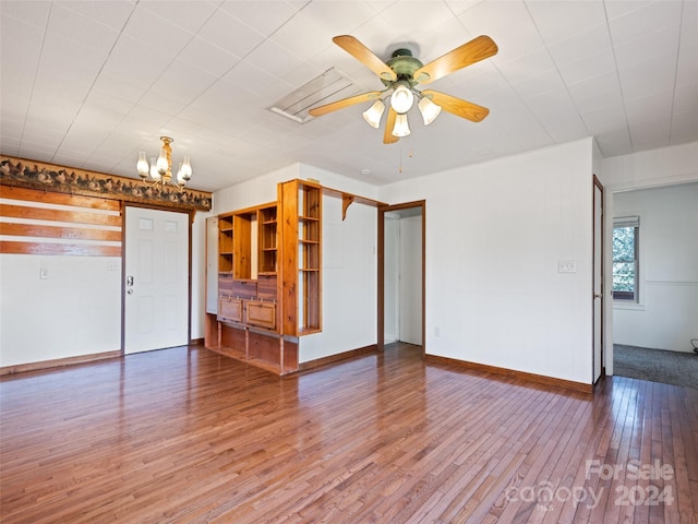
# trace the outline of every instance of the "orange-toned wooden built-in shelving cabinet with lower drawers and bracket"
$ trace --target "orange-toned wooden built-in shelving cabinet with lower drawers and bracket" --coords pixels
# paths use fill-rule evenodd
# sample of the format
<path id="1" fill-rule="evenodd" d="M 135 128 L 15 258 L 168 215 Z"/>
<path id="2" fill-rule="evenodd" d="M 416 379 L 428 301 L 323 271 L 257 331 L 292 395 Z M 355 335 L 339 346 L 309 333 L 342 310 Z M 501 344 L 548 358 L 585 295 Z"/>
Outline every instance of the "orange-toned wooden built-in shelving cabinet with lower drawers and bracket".
<path id="1" fill-rule="evenodd" d="M 297 371 L 299 337 L 322 331 L 323 193 L 380 205 L 318 183 L 290 180 L 277 201 L 218 215 L 218 311 L 206 347 L 278 374 Z"/>

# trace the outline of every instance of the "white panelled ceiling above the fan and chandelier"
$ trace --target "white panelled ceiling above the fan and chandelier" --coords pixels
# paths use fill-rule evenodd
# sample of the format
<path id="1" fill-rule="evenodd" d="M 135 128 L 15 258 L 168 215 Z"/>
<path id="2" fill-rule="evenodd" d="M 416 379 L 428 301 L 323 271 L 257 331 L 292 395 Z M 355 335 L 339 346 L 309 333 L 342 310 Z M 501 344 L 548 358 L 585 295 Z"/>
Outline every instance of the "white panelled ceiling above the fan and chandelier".
<path id="1" fill-rule="evenodd" d="M 0 153 L 137 178 L 139 151 L 190 155 L 214 191 L 296 162 L 382 184 L 595 136 L 604 157 L 698 140 L 698 1 L 0 0 Z M 500 51 L 430 88 L 490 108 L 442 112 L 383 144 L 360 104 L 300 124 L 269 110 L 337 68 L 332 37 L 423 62 L 478 35 Z M 385 117 L 384 117 L 385 119 Z M 370 170 L 370 174 L 362 174 Z"/>

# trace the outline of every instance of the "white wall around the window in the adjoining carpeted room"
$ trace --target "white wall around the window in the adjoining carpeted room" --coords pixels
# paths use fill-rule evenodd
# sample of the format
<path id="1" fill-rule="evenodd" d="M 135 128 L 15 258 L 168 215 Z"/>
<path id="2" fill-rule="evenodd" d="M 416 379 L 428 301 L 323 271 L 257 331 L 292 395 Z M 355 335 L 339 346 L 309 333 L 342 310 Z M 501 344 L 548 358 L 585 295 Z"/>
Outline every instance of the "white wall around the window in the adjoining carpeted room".
<path id="1" fill-rule="evenodd" d="M 640 297 L 614 303 L 616 344 L 691 353 L 698 338 L 698 182 L 618 192 L 614 215 L 640 217 Z"/>

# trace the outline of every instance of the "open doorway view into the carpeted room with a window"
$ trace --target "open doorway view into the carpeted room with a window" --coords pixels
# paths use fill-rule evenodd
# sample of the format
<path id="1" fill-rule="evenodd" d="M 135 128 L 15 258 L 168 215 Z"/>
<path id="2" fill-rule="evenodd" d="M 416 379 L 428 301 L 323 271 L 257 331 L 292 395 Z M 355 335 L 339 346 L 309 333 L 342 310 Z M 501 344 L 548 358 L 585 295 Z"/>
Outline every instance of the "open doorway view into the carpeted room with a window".
<path id="1" fill-rule="evenodd" d="M 687 368 L 673 370 L 669 362 L 696 358 L 691 338 L 698 314 L 698 181 L 617 187 L 610 196 L 614 222 L 606 230 L 617 230 L 622 240 L 623 230 L 630 228 L 635 250 L 634 293 L 619 293 L 607 302 L 613 374 L 670 383 Z M 623 265 L 621 253 L 618 249 L 618 260 L 611 264 Z M 621 276 L 615 287 L 625 290 Z"/>

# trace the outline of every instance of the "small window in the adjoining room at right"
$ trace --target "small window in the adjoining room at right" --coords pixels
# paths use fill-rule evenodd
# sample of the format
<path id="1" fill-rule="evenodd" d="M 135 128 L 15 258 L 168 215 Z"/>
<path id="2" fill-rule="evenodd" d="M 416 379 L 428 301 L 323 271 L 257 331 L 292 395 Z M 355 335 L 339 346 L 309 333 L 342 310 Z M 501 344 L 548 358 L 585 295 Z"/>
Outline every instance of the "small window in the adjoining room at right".
<path id="1" fill-rule="evenodd" d="M 613 221 L 613 298 L 638 301 L 639 216 Z"/>

